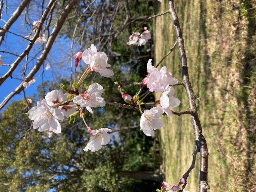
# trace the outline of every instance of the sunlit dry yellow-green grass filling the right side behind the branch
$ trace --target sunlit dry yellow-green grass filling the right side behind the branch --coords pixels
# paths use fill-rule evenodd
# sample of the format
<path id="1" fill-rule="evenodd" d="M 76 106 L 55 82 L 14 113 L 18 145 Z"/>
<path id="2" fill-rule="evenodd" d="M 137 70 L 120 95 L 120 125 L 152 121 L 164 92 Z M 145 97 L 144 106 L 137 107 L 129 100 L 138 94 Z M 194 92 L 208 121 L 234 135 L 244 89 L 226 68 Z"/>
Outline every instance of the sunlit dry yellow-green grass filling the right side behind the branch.
<path id="1" fill-rule="evenodd" d="M 190 79 L 209 148 L 211 191 L 255 191 L 256 130 L 256 8 L 255 1 L 174 2 L 184 34 Z M 163 1 L 156 13 L 168 10 Z M 176 38 L 170 16 L 155 20 L 155 63 L 169 51 Z M 177 48 L 163 65 L 181 80 Z M 176 97 L 187 110 L 183 88 Z M 166 180 L 172 184 L 190 166 L 194 138 L 190 117 L 164 117 L 161 130 Z M 198 162 L 198 160 L 197 160 Z M 187 189 L 197 191 L 198 164 Z"/>

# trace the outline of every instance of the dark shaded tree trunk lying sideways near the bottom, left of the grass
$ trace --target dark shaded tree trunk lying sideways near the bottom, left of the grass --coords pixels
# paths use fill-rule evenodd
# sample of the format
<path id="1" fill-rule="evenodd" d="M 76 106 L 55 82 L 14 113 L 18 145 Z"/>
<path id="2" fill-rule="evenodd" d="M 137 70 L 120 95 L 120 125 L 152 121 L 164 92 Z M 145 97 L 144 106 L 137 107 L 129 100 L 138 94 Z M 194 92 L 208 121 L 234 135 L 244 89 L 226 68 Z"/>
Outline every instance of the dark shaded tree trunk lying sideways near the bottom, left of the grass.
<path id="1" fill-rule="evenodd" d="M 119 171 L 118 176 L 141 179 L 141 180 L 163 180 L 163 176 L 159 170 L 156 171 Z"/>

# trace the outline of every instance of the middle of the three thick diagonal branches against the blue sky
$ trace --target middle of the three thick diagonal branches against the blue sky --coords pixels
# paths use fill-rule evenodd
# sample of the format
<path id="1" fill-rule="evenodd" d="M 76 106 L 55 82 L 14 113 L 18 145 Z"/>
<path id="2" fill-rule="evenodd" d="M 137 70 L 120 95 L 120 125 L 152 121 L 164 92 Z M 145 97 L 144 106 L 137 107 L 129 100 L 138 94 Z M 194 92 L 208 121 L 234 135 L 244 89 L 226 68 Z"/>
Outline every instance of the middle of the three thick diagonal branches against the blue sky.
<path id="1" fill-rule="evenodd" d="M 23 58 L 30 52 L 31 48 L 33 47 L 36 39 L 38 38 L 41 28 L 44 24 L 44 21 L 46 19 L 46 16 L 48 15 L 52 5 L 54 4 L 56 0 L 51 0 L 48 4 L 48 6 L 46 7 L 46 9 L 44 10 L 44 14 L 41 17 L 40 23 L 38 24 L 37 30 L 35 32 L 34 37 L 32 38 L 31 42 L 28 44 L 28 46 L 26 47 L 26 49 L 24 50 L 24 52 L 22 52 L 22 54 L 20 54 L 20 56 L 18 56 L 18 58 L 13 62 L 12 67 L 6 72 L 6 74 L 4 74 L 1 78 L 0 78 L 0 85 L 3 84 L 3 82 L 10 76 L 12 76 L 12 73 L 14 72 L 14 70 L 17 68 L 18 64 L 23 60 Z"/>

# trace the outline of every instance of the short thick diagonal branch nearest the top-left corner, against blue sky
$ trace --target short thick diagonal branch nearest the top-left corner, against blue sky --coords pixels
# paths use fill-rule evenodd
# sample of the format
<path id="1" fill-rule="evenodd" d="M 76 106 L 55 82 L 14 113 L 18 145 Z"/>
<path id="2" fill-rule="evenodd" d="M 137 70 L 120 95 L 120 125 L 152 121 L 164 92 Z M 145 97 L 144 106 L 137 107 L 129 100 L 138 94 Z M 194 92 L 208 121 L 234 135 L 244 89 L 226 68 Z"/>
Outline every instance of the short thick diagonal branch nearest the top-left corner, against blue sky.
<path id="1" fill-rule="evenodd" d="M 10 17 L 10 19 L 4 25 L 4 27 L 3 27 L 4 30 L 0 30 L 0 36 L 1 36 L 0 37 L 0 45 L 2 44 L 2 41 L 4 40 L 4 34 L 6 33 L 6 30 L 9 30 L 9 28 L 17 20 L 17 18 L 20 16 L 20 14 L 24 10 L 24 8 L 28 5 L 29 2 L 30 2 L 30 0 L 23 0 L 20 3 L 20 5 L 18 6 L 18 8 L 14 11 L 14 13 Z M 1 2 L 1 4 L 2 4 L 2 2 Z M 1 6 L 1 8 L 2 8 L 2 6 Z"/>

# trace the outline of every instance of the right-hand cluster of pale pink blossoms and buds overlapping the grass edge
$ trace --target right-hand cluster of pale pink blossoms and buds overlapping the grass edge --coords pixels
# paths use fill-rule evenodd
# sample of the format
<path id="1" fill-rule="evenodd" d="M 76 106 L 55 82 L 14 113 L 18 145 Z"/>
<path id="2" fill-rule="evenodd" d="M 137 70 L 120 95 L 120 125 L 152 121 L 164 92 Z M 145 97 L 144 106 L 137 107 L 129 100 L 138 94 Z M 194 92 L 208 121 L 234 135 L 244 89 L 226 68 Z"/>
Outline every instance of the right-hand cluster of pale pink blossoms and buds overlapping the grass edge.
<path id="1" fill-rule="evenodd" d="M 171 109 L 180 105 L 180 100 L 174 97 L 175 90 L 173 88 L 173 85 L 177 84 L 178 80 L 172 76 L 172 73 L 167 71 L 166 66 L 163 66 L 160 70 L 152 66 L 152 59 L 148 60 L 147 72 L 148 75 L 142 80 L 140 90 L 133 99 L 124 92 L 122 92 L 122 98 L 140 106 L 147 104 L 142 100 L 150 92 L 162 92 L 160 100 L 153 103 L 160 104 L 160 106 L 153 107 L 150 110 L 144 110 L 140 118 L 140 130 L 142 130 L 146 136 L 154 136 L 154 130 L 158 130 L 164 126 L 160 117 L 164 113 L 168 116 L 172 116 Z M 140 96 L 140 92 L 144 87 L 147 88 L 147 92 Z M 143 98 L 140 99 L 142 96 Z"/>

